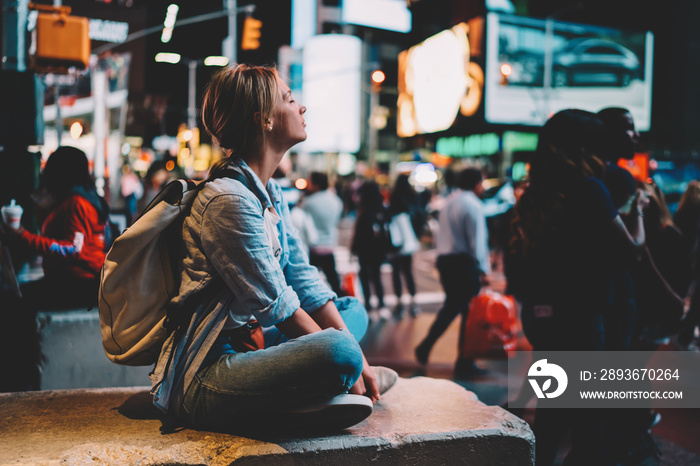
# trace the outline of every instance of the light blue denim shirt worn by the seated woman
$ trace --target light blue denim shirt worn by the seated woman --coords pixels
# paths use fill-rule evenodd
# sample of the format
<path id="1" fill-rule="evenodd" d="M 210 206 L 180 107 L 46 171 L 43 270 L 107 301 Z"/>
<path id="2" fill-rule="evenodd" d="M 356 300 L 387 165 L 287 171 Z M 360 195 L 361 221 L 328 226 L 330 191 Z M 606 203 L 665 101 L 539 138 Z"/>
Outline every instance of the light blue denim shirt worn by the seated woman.
<path id="1" fill-rule="evenodd" d="M 247 176 L 255 192 L 231 178 L 210 181 L 183 224 L 182 279 L 173 303 L 203 290 L 217 276 L 226 286 L 202 293 L 184 335 L 170 335 L 163 344 L 151 374 L 154 403 L 163 411 L 177 412 L 224 325 L 256 319 L 269 327 L 299 307 L 313 312 L 337 297 L 309 265 L 279 185 L 271 179 L 265 189 L 243 161 L 233 168 Z M 265 210 L 270 207 L 281 217 L 274 225 L 279 239 L 274 250 L 265 233 Z"/>

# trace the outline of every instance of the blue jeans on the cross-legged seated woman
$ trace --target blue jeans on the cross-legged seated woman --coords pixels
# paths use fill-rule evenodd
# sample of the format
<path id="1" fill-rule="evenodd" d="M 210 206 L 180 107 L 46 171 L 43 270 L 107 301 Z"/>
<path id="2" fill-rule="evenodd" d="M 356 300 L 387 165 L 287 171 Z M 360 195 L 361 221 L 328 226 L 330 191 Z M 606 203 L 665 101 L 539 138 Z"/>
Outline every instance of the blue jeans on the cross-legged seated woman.
<path id="1" fill-rule="evenodd" d="M 325 329 L 288 340 L 265 329 L 265 349 L 222 354 L 195 376 L 181 415 L 196 428 L 272 424 L 275 413 L 308 400 L 346 393 L 362 374 L 358 341 L 367 311 L 355 298 L 336 306 L 350 332 Z"/>

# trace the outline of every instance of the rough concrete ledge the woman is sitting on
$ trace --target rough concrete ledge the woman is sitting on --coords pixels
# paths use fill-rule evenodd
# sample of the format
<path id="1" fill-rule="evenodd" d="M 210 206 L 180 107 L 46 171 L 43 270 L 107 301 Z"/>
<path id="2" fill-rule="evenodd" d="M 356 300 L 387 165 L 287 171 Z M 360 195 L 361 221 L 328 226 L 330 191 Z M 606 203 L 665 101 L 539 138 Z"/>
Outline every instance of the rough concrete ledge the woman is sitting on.
<path id="1" fill-rule="evenodd" d="M 528 424 L 448 380 L 399 379 L 362 423 L 322 437 L 160 432 L 147 387 L 0 394 L 0 464 L 530 465 Z"/>

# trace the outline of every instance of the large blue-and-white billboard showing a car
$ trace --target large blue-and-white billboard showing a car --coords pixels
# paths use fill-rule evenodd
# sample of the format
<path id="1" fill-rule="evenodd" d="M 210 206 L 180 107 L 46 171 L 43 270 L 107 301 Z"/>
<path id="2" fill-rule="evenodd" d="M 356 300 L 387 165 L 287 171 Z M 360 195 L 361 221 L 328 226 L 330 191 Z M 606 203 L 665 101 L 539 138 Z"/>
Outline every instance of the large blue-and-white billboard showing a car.
<path id="1" fill-rule="evenodd" d="M 630 110 L 651 125 L 653 35 L 489 13 L 484 118 L 540 126 L 564 108 Z"/>

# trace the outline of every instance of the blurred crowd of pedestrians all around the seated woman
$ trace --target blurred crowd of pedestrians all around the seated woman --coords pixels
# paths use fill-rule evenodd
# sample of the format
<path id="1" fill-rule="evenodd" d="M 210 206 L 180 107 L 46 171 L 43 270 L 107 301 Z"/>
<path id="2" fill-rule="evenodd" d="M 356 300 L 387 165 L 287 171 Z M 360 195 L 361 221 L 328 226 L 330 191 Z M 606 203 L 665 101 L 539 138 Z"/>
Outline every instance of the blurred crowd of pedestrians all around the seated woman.
<path id="1" fill-rule="evenodd" d="M 688 184 L 671 212 L 652 179 L 635 179 L 617 164 L 633 157 L 639 144 L 623 108 L 597 114 L 567 109 L 541 128 L 528 177 L 511 180 L 512 203 L 498 215 L 489 215 L 481 199 L 484 173 L 466 167 L 448 171 L 434 191 L 417 191 L 407 173 L 389 186 L 359 177 L 341 183 L 312 172 L 292 218 L 310 263 L 330 288 L 340 296 L 361 290 L 375 321 L 419 312 L 413 256 L 430 238 L 445 302 L 416 348 L 421 364 L 453 319 L 466 319 L 469 300 L 488 286 L 492 262 L 503 267 L 506 294 L 518 302 L 535 350 L 653 351 L 671 340 L 680 350 L 697 349 L 700 182 Z M 143 178 L 124 166 L 126 226 L 172 178 L 159 162 Z M 436 197 L 440 207 L 431 209 Z M 42 258 L 41 280 L 19 290 L 4 280 L 2 289 L 3 316 L 12 319 L 5 328 L 24 332 L 20 352 L 32 363 L 12 359 L 16 367 L 9 373 L 16 376 L 4 378 L 0 391 L 39 388 L 36 311 L 93 306 L 105 252 L 119 234 L 110 229 L 110 207 L 76 148 L 60 147 L 49 157 L 32 200 L 32 218 L 27 215 L 19 228 L 3 223 L 0 230 L 13 263 Z M 354 220 L 350 251 L 357 277 L 339 274 L 335 262 L 343 218 Z M 385 263 L 391 266 L 393 309 L 385 303 Z M 10 353 L 8 338 L 0 341 L 3 354 Z M 474 361 L 458 363 L 468 374 L 482 371 Z M 554 462 L 563 427 L 572 439 L 566 464 L 634 464 L 626 461 L 653 456 L 648 429 L 658 413 L 622 411 L 537 410 L 537 464 Z"/>

